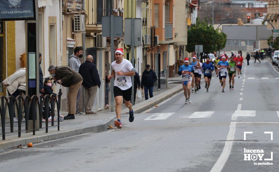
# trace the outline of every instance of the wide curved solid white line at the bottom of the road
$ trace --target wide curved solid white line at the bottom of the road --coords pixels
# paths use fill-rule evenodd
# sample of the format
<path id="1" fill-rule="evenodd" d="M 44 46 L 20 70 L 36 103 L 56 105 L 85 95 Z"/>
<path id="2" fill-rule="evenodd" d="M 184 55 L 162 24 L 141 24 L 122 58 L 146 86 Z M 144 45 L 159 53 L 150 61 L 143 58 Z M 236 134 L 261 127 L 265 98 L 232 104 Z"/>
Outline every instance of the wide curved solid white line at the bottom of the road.
<path id="1" fill-rule="evenodd" d="M 229 158 L 229 154 L 232 149 L 232 145 L 233 145 L 233 142 L 229 141 L 229 140 L 234 140 L 235 125 L 236 125 L 236 122 L 230 123 L 229 133 L 227 136 L 228 141 L 225 141 L 225 146 L 224 146 L 223 152 L 220 155 L 220 157 L 218 158 L 217 162 L 212 167 L 212 169 L 210 170 L 210 172 L 219 172 L 223 169 L 224 165 L 226 164 L 226 162 Z"/>

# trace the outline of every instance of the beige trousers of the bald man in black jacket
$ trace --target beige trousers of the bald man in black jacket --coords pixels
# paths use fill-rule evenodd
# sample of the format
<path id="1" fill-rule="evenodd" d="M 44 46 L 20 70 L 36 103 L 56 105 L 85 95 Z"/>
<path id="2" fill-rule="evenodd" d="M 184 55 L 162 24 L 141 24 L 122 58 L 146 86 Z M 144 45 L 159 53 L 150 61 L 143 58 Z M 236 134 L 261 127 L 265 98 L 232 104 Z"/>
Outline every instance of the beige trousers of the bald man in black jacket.
<path id="1" fill-rule="evenodd" d="M 84 88 L 84 109 L 85 112 L 91 112 L 93 107 L 98 86 L 95 85 L 89 89 Z"/>

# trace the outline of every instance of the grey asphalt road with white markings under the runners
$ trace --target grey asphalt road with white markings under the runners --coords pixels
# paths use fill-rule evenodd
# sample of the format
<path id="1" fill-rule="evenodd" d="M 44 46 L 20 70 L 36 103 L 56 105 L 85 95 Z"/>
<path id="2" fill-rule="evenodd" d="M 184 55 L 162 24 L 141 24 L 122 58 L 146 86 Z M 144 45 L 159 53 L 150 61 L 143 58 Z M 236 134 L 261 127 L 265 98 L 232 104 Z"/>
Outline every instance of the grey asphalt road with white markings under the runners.
<path id="1" fill-rule="evenodd" d="M 203 82 L 191 94 L 192 104 L 184 104 L 184 95 L 178 93 L 148 113 L 135 114 L 133 123 L 122 116 L 123 129 L 0 152 L 0 169 L 278 171 L 278 84 L 279 74 L 270 63 L 252 62 L 235 78 L 234 90 L 229 91 L 227 81 L 222 93 L 215 75 L 208 93 Z M 250 132 L 246 140 L 244 132 Z"/>

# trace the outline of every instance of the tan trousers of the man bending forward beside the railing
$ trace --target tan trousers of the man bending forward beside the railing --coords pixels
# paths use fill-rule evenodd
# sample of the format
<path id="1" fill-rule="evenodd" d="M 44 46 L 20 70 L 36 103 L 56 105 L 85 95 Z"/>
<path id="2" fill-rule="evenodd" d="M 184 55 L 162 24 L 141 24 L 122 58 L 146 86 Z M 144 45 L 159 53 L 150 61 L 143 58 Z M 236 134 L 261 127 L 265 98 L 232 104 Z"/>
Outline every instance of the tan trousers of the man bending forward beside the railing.
<path id="1" fill-rule="evenodd" d="M 77 92 L 82 85 L 82 81 L 76 83 L 75 85 L 71 85 L 68 92 L 68 103 L 69 103 L 69 114 L 76 114 L 76 96 Z"/>

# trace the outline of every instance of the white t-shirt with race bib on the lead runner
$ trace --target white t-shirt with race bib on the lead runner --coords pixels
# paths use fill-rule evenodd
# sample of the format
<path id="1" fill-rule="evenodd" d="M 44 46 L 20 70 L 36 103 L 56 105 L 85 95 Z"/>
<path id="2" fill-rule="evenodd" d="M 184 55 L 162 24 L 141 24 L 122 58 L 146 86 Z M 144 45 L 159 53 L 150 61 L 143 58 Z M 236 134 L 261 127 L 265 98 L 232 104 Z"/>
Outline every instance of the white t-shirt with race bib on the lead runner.
<path id="1" fill-rule="evenodd" d="M 127 90 L 132 87 L 132 80 L 130 76 L 119 76 L 117 74 L 117 72 L 131 72 L 134 68 L 132 63 L 127 59 L 123 59 L 123 61 L 119 64 L 114 61 L 113 63 L 111 63 L 111 66 L 115 72 L 114 86 L 118 87 L 121 90 Z"/>

